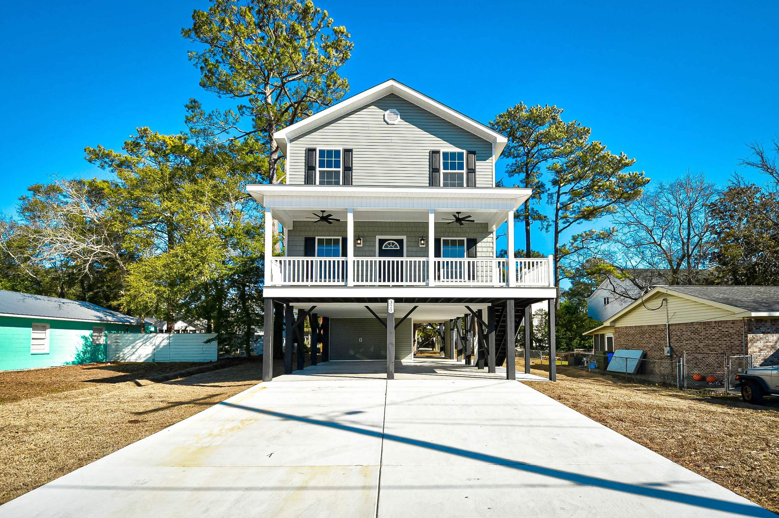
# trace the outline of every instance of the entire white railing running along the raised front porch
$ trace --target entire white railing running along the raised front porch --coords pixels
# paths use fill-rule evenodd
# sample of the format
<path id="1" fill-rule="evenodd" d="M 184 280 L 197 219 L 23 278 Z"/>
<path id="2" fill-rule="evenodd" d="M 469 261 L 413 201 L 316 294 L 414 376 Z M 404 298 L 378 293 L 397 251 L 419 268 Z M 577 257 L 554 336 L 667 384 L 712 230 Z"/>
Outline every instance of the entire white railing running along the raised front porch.
<path id="1" fill-rule="evenodd" d="M 434 285 L 552 287 L 552 258 L 435 258 Z M 426 257 L 354 257 L 351 285 L 420 286 L 429 280 Z M 266 285 L 347 285 L 346 257 L 273 257 Z M 509 278 L 513 275 L 514 278 Z M 513 280 L 513 283 L 509 282 Z"/>

